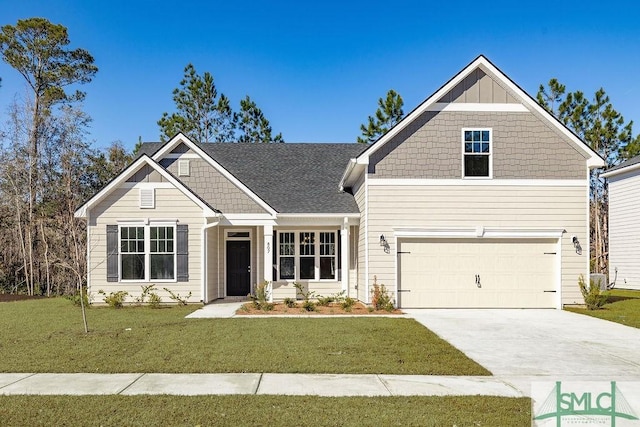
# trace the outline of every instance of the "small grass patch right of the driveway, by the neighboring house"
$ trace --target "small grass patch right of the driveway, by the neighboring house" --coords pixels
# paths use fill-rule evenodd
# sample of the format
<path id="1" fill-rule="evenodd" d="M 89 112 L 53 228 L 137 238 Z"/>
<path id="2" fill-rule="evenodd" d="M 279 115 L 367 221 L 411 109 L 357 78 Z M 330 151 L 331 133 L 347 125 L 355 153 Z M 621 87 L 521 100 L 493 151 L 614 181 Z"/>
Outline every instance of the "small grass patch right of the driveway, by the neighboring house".
<path id="1" fill-rule="evenodd" d="M 577 307 L 569 307 L 567 310 L 640 328 L 640 291 L 613 289 L 607 303 L 600 310 Z"/>

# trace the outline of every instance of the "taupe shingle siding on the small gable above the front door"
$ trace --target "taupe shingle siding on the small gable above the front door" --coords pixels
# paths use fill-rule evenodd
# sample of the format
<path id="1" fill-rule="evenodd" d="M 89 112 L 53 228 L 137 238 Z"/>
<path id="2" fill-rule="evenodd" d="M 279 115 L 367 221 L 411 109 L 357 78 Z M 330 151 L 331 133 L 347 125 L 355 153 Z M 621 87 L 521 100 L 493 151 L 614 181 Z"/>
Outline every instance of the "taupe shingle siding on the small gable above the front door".
<path id="1" fill-rule="evenodd" d="M 178 176 L 178 161 L 164 159 L 162 166 L 178 176 L 187 187 L 223 213 L 266 213 L 244 191 L 230 182 L 209 163 L 199 158 L 189 158 L 189 176 Z"/>

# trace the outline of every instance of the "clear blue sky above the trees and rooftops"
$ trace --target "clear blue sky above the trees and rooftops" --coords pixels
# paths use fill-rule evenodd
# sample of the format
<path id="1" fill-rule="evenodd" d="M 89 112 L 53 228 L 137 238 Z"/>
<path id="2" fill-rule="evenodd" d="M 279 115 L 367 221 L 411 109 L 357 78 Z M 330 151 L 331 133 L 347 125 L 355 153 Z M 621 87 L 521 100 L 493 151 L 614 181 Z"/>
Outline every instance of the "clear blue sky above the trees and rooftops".
<path id="1" fill-rule="evenodd" d="M 99 72 L 82 89 L 96 147 L 157 141 L 186 64 L 245 95 L 287 142 L 352 142 L 389 89 L 411 111 L 479 54 L 535 96 L 556 77 L 603 87 L 640 132 L 640 4 L 514 1 L 0 0 L 0 25 L 41 16 L 69 30 Z M 24 94 L 0 62 L 0 119 Z"/>

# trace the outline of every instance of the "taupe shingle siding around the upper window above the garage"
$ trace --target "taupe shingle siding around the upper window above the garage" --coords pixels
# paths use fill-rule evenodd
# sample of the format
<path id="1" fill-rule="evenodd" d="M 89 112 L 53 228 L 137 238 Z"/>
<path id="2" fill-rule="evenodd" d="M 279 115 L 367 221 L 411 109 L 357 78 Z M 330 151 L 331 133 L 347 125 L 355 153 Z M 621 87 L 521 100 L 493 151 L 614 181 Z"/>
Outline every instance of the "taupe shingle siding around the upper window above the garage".
<path id="1" fill-rule="evenodd" d="M 533 113 L 425 112 L 371 156 L 371 178 L 460 179 L 469 127 L 493 129 L 495 179 L 585 177 L 584 154 Z"/>

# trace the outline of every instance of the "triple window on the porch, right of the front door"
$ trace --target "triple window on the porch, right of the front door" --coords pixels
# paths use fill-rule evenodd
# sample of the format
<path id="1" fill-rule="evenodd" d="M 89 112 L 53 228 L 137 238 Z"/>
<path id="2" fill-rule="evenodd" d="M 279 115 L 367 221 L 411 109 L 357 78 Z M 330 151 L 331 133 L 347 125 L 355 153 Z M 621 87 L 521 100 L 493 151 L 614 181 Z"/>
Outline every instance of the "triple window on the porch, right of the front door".
<path id="1" fill-rule="evenodd" d="M 335 231 L 278 232 L 279 280 L 336 280 L 337 239 Z"/>

